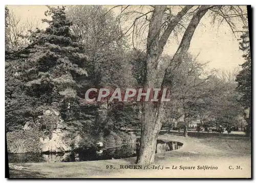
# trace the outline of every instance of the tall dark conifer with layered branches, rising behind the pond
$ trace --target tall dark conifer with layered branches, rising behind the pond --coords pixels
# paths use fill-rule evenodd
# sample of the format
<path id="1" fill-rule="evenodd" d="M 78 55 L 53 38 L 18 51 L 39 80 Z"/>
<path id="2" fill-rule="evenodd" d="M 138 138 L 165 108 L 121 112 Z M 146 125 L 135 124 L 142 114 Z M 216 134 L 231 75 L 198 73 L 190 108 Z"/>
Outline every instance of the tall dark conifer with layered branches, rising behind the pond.
<path id="1" fill-rule="evenodd" d="M 87 75 L 84 68 L 87 56 L 71 33 L 72 23 L 67 19 L 65 7 L 48 8 L 45 15 L 52 19 L 42 21 L 47 22 L 49 27 L 38 29 L 31 38 L 34 47 L 26 64 L 29 79 L 25 85 L 28 94 L 36 97 L 38 106 L 58 108 L 59 102 L 63 101 L 71 110 L 72 103 L 77 101 L 79 85 L 76 79 Z"/>

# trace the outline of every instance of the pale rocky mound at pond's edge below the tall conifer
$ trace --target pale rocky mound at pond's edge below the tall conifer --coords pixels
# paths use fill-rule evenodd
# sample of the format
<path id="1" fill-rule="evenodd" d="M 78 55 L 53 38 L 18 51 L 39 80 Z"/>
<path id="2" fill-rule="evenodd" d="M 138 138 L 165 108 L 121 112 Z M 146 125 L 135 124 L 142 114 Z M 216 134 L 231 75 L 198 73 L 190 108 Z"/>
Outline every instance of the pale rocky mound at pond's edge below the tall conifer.
<path id="1" fill-rule="evenodd" d="M 61 129 L 55 129 L 52 132 L 52 139 L 49 137 L 46 139 L 40 138 L 42 143 L 42 152 L 67 152 L 71 150 L 63 139 L 65 138 L 65 133 Z"/>

